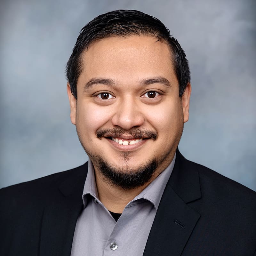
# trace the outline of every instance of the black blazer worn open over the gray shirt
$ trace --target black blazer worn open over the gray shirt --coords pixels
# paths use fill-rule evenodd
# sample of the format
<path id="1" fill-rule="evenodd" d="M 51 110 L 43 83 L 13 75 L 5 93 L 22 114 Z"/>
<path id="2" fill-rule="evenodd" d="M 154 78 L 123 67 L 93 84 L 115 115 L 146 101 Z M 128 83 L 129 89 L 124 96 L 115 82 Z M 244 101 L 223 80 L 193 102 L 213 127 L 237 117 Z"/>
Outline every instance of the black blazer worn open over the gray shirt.
<path id="1" fill-rule="evenodd" d="M 70 255 L 87 168 L 1 189 L 0 255 Z M 255 251 L 256 193 L 177 151 L 143 256 Z"/>

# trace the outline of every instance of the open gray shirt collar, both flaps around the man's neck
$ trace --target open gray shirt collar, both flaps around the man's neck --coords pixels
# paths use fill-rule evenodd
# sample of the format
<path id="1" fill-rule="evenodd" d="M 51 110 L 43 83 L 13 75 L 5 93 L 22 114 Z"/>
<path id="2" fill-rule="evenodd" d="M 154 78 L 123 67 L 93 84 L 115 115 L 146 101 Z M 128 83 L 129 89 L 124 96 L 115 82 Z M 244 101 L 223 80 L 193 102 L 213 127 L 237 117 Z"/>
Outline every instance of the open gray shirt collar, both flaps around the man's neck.
<path id="1" fill-rule="evenodd" d="M 164 188 L 166 187 L 166 184 L 172 174 L 175 159 L 176 153 L 172 159 L 171 164 L 169 164 L 169 166 L 163 172 L 161 172 L 156 177 L 156 179 L 153 180 L 138 196 L 135 196 L 134 199 L 127 206 L 132 206 L 134 204 L 134 201 L 143 198 L 151 202 L 154 205 L 155 209 L 157 210 L 161 197 L 164 193 Z M 91 195 L 95 199 L 99 200 L 98 191 L 95 183 L 94 168 L 90 158 L 88 161 L 88 173 L 84 183 L 83 191 L 84 208 L 86 207 L 88 200 L 88 196 L 86 195 Z"/>

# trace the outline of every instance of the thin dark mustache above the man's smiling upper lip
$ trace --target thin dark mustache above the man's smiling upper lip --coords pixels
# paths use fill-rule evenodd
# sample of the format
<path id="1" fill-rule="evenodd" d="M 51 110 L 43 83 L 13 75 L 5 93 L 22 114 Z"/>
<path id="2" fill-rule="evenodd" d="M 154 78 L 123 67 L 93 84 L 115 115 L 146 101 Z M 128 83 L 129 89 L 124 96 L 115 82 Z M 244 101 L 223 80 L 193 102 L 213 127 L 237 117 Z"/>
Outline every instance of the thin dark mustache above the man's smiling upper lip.
<path id="1" fill-rule="evenodd" d="M 139 129 L 139 128 L 132 128 L 129 131 L 126 131 L 120 127 L 116 127 L 113 129 L 98 129 L 96 131 L 96 136 L 98 139 L 101 137 L 116 137 L 120 138 L 123 134 L 129 134 L 133 138 L 151 138 L 153 140 L 156 140 L 158 137 L 157 132 L 145 130 L 145 129 Z"/>

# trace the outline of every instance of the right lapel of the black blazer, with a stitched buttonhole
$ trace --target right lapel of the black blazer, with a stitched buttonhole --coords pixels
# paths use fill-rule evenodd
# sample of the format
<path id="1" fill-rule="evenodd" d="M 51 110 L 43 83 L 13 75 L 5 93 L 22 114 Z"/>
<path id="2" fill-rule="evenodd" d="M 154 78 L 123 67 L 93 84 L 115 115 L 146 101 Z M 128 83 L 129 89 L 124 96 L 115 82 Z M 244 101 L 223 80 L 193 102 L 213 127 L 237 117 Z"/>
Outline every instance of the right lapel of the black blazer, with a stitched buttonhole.
<path id="1" fill-rule="evenodd" d="M 143 256 L 181 255 L 201 216 L 187 204 L 201 198 L 198 172 L 189 169 L 187 163 L 177 150 Z"/>

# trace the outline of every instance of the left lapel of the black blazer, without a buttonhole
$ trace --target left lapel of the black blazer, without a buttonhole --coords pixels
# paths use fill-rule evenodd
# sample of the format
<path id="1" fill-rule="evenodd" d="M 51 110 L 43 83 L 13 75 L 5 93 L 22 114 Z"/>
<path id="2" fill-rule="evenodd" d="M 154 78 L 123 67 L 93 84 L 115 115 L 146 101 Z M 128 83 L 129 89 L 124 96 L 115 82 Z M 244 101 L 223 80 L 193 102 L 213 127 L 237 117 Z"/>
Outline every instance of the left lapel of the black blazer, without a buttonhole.
<path id="1" fill-rule="evenodd" d="M 66 177 L 57 193 L 51 195 L 52 203 L 44 208 L 40 256 L 70 256 L 76 220 L 83 209 L 82 193 L 88 165 L 78 168 L 81 168 L 79 174 Z"/>

